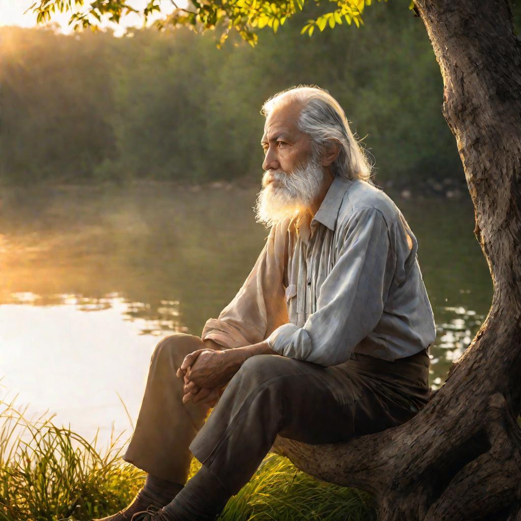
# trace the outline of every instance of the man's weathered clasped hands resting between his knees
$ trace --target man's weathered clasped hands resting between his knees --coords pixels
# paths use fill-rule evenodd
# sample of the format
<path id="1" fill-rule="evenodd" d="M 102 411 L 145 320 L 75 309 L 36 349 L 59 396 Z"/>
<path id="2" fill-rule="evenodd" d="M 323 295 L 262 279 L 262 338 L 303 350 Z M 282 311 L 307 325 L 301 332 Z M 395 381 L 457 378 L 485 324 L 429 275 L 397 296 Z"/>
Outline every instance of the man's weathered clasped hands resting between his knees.
<path id="1" fill-rule="evenodd" d="M 184 379 L 183 403 L 215 405 L 221 389 L 241 366 L 240 357 L 234 351 L 204 348 L 184 357 L 176 373 Z"/>

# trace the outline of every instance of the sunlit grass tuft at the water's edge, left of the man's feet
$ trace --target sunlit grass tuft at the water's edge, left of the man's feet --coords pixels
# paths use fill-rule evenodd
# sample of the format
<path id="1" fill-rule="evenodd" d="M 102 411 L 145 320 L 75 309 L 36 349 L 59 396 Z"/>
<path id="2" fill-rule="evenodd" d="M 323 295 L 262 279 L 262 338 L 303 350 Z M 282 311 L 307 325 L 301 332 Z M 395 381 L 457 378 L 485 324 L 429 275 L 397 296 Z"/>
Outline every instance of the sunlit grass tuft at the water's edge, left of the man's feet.
<path id="1" fill-rule="evenodd" d="M 144 473 L 121 464 L 119 437 L 101 453 L 53 416 L 27 419 L 0 402 L 0 520 L 92 519 L 116 512 L 137 493 Z"/>

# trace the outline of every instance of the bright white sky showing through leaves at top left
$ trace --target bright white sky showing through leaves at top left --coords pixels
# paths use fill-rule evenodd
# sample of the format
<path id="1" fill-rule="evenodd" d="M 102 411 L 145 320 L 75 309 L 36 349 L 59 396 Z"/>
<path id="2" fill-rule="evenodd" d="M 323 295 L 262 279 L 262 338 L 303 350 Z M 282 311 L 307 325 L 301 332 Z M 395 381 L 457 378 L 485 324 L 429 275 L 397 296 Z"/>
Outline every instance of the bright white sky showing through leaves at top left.
<path id="1" fill-rule="evenodd" d="M 31 7 L 34 2 L 35 0 L 0 0 L 0 26 L 34 27 L 36 25 L 36 15 L 32 11 L 24 14 L 24 11 Z M 138 9 L 146 5 L 146 0 L 129 0 L 128 3 Z M 179 6 L 186 4 L 187 2 L 185 1 L 178 3 Z M 161 0 L 161 8 L 163 13 L 170 13 L 173 10 L 173 5 L 170 0 Z M 57 13 L 54 15 L 53 21 L 59 24 L 61 31 L 68 33 L 72 31 L 68 27 L 69 17 L 70 14 Z M 157 15 L 156 18 L 158 18 Z M 152 18 L 151 21 L 153 21 Z M 140 25 L 140 18 L 134 14 L 126 16 L 119 27 L 108 21 L 102 23 L 102 27 L 113 28 L 116 35 L 121 35 L 125 31 L 125 27 Z"/>

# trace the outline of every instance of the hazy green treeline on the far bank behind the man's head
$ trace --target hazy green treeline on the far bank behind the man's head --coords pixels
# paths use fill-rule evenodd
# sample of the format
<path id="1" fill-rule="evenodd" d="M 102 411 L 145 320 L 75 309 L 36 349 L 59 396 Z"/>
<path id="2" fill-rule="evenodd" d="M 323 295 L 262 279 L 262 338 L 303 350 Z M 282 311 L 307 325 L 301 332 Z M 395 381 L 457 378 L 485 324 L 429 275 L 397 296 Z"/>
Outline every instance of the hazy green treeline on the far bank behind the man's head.
<path id="1" fill-rule="evenodd" d="M 309 17 L 252 48 L 185 29 L 55 34 L 0 29 L 0 180 L 4 184 L 262 175 L 262 102 L 318 84 L 344 107 L 377 182 L 461 178 L 441 114 L 443 83 L 408 2 L 368 7 L 365 26 L 312 38 Z"/>

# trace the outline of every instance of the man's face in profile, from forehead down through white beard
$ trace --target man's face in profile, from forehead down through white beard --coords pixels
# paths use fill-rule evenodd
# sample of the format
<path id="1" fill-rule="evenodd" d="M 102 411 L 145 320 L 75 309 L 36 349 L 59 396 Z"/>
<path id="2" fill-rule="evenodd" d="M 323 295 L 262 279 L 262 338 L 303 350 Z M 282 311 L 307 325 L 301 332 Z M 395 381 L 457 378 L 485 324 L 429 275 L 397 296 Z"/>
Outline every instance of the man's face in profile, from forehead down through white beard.
<path id="1" fill-rule="evenodd" d="M 266 226 L 305 212 L 324 179 L 311 139 L 296 128 L 299 113 L 300 106 L 291 105 L 274 110 L 266 119 L 263 189 L 255 205 L 257 221 Z"/>

